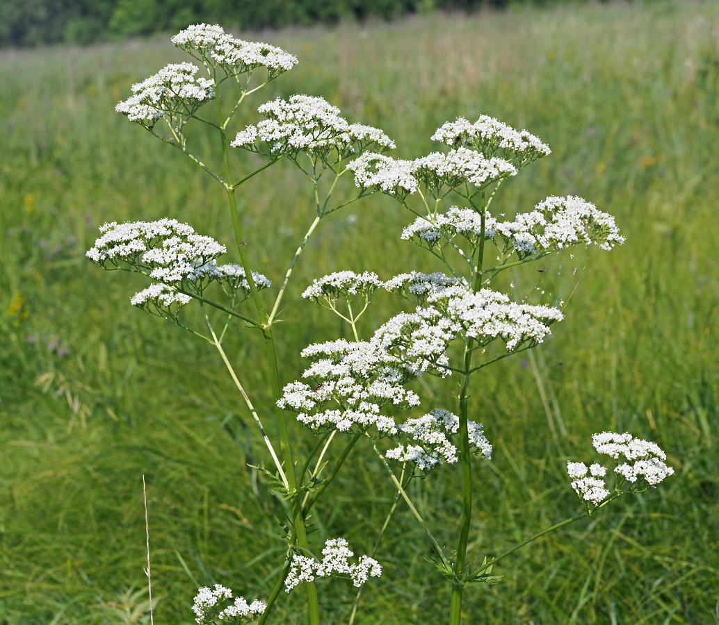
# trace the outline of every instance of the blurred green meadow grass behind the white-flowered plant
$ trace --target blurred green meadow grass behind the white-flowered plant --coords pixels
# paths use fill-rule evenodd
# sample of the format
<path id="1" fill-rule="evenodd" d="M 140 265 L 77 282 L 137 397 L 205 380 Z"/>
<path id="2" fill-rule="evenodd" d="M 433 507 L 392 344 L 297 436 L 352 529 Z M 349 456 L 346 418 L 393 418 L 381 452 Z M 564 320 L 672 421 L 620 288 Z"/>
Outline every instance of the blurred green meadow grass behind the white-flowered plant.
<path id="1" fill-rule="evenodd" d="M 719 5 L 527 9 L 262 38 L 301 63 L 238 127 L 275 95 L 310 93 L 416 157 L 436 149 L 429 136 L 444 121 L 490 114 L 554 150 L 505 185 L 502 210 L 574 193 L 615 214 L 626 236 L 611 254 L 578 249 L 551 271 L 513 277 L 527 290 L 541 278 L 536 298 L 569 300 L 567 319 L 531 358 L 485 369 L 473 388 L 495 453 L 475 469 L 472 559 L 580 511 L 565 466 L 590 460 L 593 432 L 655 440 L 677 475 L 505 560 L 500 585 L 467 591 L 467 623 L 719 622 Z M 232 243 L 219 186 L 113 112 L 132 83 L 180 58 L 167 40 L 0 53 L 0 623 L 149 622 L 143 474 L 157 623 L 191 622 L 199 585 L 266 597 L 281 563 L 267 514 L 278 510 L 247 466 L 263 449 L 219 358 L 132 309 L 144 284 L 84 257 L 114 220 L 170 216 Z M 208 154 L 216 147 L 197 139 Z M 313 217 L 308 188 L 278 165 L 241 198 L 249 251 L 276 281 Z M 278 327 L 285 380 L 303 346 L 345 331 L 298 303 L 313 277 L 438 269 L 399 240 L 409 221 L 376 197 L 323 221 Z M 398 308 L 387 296 L 373 310 L 365 333 Z M 227 351 L 266 407 L 256 348 L 237 328 Z M 452 384 L 428 384 L 425 404 L 449 407 Z M 295 431 L 309 448 L 311 435 Z M 319 504 L 311 540 L 346 536 L 364 553 L 393 489 L 367 450 L 348 469 Z M 454 545 L 456 471 L 413 491 Z M 444 622 L 449 588 L 428 555 L 400 505 L 357 622 Z M 347 621 L 349 583 L 320 596 L 324 622 Z M 303 593 L 283 606 L 275 622 L 303 621 Z"/>

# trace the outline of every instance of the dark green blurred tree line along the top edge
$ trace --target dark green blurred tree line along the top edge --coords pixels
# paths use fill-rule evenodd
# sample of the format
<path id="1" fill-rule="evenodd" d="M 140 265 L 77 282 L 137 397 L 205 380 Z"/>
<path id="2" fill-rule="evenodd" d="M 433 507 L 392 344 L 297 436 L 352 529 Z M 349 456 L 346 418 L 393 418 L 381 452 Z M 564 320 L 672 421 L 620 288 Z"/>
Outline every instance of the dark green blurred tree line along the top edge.
<path id="1" fill-rule="evenodd" d="M 395 19 L 434 10 L 559 0 L 1 0 L 0 47 L 94 42 L 178 32 L 199 22 L 243 30 Z"/>

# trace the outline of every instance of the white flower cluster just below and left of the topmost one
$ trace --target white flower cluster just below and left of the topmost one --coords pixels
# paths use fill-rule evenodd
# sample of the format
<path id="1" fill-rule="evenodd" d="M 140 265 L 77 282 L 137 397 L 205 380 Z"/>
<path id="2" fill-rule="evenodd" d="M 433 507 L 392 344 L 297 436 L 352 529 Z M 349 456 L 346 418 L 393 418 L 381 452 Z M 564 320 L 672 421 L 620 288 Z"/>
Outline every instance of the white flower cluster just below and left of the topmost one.
<path id="1" fill-rule="evenodd" d="M 152 126 L 165 116 L 187 118 L 215 97 L 211 80 L 195 78 L 198 71 L 192 63 L 167 65 L 142 83 L 132 85 L 132 96 L 118 103 L 115 111 L 143 126 Z"/>

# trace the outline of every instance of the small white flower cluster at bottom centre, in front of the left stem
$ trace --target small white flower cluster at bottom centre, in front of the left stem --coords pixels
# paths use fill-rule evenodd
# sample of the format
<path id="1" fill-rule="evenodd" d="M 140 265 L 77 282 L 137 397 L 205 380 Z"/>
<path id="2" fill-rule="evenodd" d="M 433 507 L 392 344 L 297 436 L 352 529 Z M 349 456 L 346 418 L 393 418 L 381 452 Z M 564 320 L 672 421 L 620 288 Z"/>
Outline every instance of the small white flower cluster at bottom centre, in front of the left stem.
<path id="1" fill-rule="evenodd" d="M 298 584 L 331 575 L 347 576 L 360 588 L 370 576 L 378 578 L 382 575 L 380 563 L 368 555 L 359 557 L 357 564 L 350 564 L 349 558 L 353 557 L 354 553 L 349 550 L 344 538 L 326 541 L 322 556 L 322 560 L 318 561 L 306 555 L 293 555 L 290 573 L 285 579 L 285 591 L 290 592 Z"/>

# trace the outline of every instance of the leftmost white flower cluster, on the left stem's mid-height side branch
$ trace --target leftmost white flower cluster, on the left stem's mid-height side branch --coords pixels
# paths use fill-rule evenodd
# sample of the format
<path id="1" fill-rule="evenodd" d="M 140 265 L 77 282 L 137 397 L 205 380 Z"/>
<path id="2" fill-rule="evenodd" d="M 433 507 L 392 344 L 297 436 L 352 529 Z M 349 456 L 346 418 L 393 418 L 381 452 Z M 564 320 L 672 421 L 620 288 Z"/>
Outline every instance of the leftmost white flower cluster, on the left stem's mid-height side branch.
<path id="1" fill-rule="evenodd" d="M 103 269 L 127 269 L 145 274 L 162 284 L 152 284 L 132 297 L 132 304 L 145 310 L 167 310 L 185 305 L 201 295 L 211 283 L 225 294 L 241 299 L 250 292 L 244 268 L 237 264 L 218 265 L 226 247 L 210 236 L 197 234 L 192 226 L 175 219 L 106 223 L 101 236 L 86 253 Z M 252 272 L 257 289 L 272 283 Z M 180 292 L 180 290 L 182 292 Z"/>

